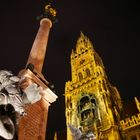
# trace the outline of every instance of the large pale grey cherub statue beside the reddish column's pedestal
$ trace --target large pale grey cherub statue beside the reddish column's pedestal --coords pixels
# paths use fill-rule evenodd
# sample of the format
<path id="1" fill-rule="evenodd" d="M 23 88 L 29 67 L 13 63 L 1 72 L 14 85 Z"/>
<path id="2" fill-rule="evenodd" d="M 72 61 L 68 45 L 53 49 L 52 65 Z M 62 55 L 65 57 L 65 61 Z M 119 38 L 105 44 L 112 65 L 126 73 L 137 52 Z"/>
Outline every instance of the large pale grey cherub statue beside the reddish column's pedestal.
<path id="1" fill-rule="evenodd" d="M 15 139 L 18 120 L 26 114 L 25 105 L 39 101 L 41 90 L 24 77 L 0 70 L 0 140 Z"/>

